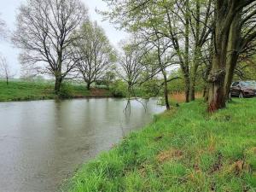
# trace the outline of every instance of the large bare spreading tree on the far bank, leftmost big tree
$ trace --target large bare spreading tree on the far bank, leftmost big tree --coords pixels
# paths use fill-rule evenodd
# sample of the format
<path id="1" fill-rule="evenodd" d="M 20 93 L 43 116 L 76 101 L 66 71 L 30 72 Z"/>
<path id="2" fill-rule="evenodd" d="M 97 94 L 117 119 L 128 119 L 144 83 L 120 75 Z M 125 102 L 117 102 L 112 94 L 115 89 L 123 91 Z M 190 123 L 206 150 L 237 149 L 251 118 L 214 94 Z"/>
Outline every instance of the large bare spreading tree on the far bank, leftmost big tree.
<path id="1" fill-rule="evenodd" d="M 19 12 L 13 42 L 23 49 L 20 61 L 53 75 L 58 93 L 76 66 L 72 44 L 79 37 L 73 32 L 87 19 L 87 10 L 80 0 L 27 0 Z"/>

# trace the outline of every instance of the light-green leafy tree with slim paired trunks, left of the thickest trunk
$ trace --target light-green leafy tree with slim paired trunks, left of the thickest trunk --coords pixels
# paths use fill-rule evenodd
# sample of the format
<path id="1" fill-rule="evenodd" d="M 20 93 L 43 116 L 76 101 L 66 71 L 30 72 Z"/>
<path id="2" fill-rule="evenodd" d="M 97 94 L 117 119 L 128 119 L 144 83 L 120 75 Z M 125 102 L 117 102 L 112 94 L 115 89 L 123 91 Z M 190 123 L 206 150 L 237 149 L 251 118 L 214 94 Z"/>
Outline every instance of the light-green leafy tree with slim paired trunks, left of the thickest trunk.
<path id="1" fill-rule="evenodd" d="M 167 38 L 169 56 L 179 64 L 184 78 L 186 101 L 195 99 L 197 70 L 203 65 L 201 49 L 212 32 L 212 0 L 106 1 L 110 12 L 102 13 L 130 32 Z M 158 38 L 154 38 L 157 42 Z M 193 53 L 193 54 L 191 54 Z"/>

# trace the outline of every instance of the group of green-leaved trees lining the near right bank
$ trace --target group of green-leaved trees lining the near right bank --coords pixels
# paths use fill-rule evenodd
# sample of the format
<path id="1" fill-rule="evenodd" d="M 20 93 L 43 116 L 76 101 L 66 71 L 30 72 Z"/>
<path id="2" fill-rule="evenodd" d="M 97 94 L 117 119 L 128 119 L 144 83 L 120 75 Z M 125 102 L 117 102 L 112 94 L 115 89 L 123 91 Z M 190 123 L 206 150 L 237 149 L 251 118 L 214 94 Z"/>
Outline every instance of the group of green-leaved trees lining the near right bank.
<path id="1" fill-rule="evenodd" d="M 195 85 L 204 79 L 209 112 L 225 107 L 234 74 L 244 78 L 244 66 L 253 63 L 254 0 L 105 2 L 110 11 L 102 14 L 135 34 L 147 64 L 153 64 L 146 70 L 150 77 L 158 66 L 167 87 L 168 68 L 178 65 L 186 102 L 195 100 Z"/>

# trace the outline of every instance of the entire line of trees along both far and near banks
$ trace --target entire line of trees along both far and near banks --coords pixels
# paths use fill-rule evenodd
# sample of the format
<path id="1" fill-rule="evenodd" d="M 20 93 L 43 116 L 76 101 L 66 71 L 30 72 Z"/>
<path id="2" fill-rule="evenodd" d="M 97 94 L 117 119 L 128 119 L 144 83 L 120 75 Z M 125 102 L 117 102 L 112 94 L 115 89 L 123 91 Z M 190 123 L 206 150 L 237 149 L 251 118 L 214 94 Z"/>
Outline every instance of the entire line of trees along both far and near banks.
<path id="1" fill-rule="evenodd" d="M 146 87 L 152 96 L 164 93 L 166 108 L 176 80 L 183 82 L 186 102 L 201 87 L 214 112 L 225 107 L 234 75 L 246 79 L 254 68 L 256 0 L 105 2 L 109 11 L 101 14 L 131 32 L 121 51 L 79 0 L 23 3 L 12 40 L 23 50 L 25 71 L 54 76 L 56 94 L 64 79 L 84 79 L 87 89 L 119 82 L 129 98 Z"/>

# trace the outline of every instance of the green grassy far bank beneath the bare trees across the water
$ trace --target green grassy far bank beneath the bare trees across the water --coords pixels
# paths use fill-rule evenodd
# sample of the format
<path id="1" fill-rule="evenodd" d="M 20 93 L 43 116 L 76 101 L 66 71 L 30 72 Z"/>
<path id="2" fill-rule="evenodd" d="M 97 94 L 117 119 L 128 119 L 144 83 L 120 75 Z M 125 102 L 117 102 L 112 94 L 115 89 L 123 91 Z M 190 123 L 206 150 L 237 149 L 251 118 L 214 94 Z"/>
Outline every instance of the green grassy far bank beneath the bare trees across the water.
<path id="1" fill-rule="evenodd" d="M 83 98 L 89 96 L 110 96 L 108 90 L 86 90 L 84 84 L 64 84 L 59 97 Z M 0 102 L 55 99 L 54 84 L 41 81 L 0 81 Z"/>

